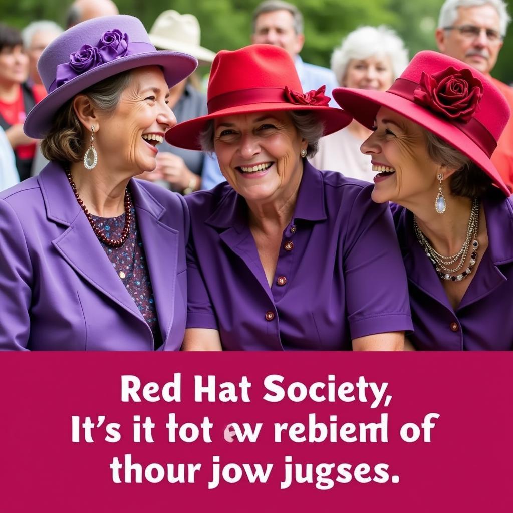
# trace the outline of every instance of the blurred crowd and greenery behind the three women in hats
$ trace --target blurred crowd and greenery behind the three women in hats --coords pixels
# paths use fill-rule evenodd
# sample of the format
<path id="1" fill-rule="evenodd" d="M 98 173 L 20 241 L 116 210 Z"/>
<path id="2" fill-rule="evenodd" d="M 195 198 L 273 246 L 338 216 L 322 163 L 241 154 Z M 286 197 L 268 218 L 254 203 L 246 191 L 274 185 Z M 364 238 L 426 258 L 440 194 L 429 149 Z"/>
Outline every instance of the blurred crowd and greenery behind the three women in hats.
<path id="1" fill-rule="evenodd" d="M 170 91 L 169 105 L 179 123 L 207 112 L 208 66 L 215 51 L 250 43 L 287 50 L 303 90 L 325 85 L 327 95 L 339 86 L 385 91 L 412 54 L 424 48 L 438 49 L 506 82 L 513 76 L 505 57 L 510 18 L 502 0 L 446 0 L 443 5 L 437 0 L 417 6 L 393 0 L 345 6 L 327 0 L 294 4 L 269 0 L 247 3 L 243 9 L 238 4 L 233 0 L 194 5 L 177 1 L 158 13 L 155 9 L 162 4 L 145 4 L 143 11 L 136 2 L 76 0 L 65 16 L 55 6 L 34 5 L 30 16 L 18 12 L 16 6 L 4 6 L 10 17 L 3 16 L 7 23 L 0 24 L 0 190 L 46 165 L 38 141 L 23 132 L 26 114 L 46 95 L 36 68 L 39 56 L 64 29 L 96 16 L 138 16 L 150 29 L 157 49 L 182 51 L 198 59 L 199 71 Z M 496 66 L 501 49 L 503 57 Z M 497 79 L 494 83 L 513 107 L 513 90 Z M 360 152 L 368 135 L 367 128 L 353 121 L 321 140 L 312 163 L 319 169 L 371 181 L 368 156 Z M 494 163 L 510 187 L 512 148 L 510 123 L 494 154 Z M 160 146 L 155 171 L 141 177 L 182 194 L 210 189 L 224 180 L 215 155 L 167 143 Z"/>

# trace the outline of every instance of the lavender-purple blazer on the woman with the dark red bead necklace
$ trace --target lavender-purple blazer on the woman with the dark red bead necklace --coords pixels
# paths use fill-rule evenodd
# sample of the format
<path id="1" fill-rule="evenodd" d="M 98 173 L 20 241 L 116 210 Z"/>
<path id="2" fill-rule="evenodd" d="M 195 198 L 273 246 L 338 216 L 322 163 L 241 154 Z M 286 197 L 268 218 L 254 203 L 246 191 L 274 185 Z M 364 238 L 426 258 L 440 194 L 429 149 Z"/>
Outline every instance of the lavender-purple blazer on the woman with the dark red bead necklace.
<path id="1" fill-rule="evenodd" d="M 182 345 L 186 321 L 181 196 L 131 180 L 137 227 L 162 332 Z M 152 350 L 153 336 L 78 206 L 63 168 L 0 194 L 0 349 Z"/>

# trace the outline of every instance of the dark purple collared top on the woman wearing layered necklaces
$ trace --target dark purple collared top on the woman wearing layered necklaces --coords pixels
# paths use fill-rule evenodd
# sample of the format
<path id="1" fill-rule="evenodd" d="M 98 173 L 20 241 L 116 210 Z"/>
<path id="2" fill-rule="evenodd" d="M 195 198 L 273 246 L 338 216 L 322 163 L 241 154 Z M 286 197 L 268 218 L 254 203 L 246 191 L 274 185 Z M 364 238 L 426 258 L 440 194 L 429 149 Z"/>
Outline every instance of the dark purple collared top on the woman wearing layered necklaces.
<path id="1" fill-rule="evenodd" d="M 394 206 L 408 274 L 410 340 L 418 349 L 513 349 L 513 204 L 499 193 L 483 199 L 488 248 L 456 311 L 413 230 L 413 215 Z M 396 210 L 397 208 L 397 210 Z"/>

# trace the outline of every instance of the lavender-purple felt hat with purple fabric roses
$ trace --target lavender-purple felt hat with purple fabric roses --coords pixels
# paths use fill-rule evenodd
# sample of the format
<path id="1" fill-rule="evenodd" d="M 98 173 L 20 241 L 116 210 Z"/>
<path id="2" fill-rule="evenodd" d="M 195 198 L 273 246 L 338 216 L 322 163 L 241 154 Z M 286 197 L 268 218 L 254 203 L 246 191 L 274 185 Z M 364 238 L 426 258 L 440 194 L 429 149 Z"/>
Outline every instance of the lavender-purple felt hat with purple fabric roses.
<path id="1" fill-rule="evenodd" d="M 71 27 L 41 54 L 37 70 L 48 96 L 28 113 L 23 130 L 42 139 L 58 109 L 75 94 L 104 78 L 141 66 L 160 66 L 172 87 L 190 75 L 198 61 L 186 53 L 157 51 L 134 16 L 103 16 Z"/>

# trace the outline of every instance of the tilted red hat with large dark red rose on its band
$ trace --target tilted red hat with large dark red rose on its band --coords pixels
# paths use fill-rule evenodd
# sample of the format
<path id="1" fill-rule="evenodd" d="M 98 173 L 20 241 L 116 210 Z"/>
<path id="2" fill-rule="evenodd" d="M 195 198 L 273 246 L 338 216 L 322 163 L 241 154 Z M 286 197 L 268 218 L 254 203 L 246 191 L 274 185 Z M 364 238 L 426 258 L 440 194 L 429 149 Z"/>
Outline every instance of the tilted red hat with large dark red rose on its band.
<path id="1" fill-rule="evenodd" d="M 333 90 L 333 97 L 368 128 L 374 125 L 380 107 L 398 112 L 461 151 L 510 195 L 490 162 L 509 120 L 509 106 L 501 92 L 466 63 L 422 51 L 388 91 L 339 87 Z"/>

